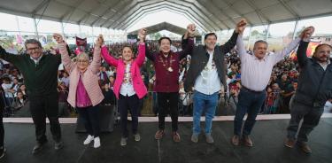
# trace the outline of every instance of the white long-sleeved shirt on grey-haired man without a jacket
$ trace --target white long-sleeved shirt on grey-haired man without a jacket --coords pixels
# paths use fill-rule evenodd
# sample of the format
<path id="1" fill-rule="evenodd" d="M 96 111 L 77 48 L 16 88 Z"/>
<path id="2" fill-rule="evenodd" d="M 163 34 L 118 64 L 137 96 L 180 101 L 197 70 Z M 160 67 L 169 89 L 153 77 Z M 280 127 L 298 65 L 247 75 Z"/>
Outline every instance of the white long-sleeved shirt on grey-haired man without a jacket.
<path id="1" fill-rule="evenodd" d="M 270 80 L 272 68 L 276 63 L 281 61 L 286 55 L 294 50 L 301 39 L 293 40 L 286 48 L 275 53 L 266 54 L 262 59 L 257 58 L 254 54 L 250 55 L 244 49 L 242 35 L 237 37 L 236 49 L 241 58 L 241 82 L 248 89 L 262 91 L 266 89 Z"/>

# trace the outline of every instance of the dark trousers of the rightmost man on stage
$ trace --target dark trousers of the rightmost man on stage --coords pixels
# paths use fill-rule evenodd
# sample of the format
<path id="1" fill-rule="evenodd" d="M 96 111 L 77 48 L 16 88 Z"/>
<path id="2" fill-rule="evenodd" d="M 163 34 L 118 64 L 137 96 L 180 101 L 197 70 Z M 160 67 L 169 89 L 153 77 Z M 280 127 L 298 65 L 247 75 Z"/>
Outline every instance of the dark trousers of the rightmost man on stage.
<path id="1" fill-rule="evenodd" d="M 308 142 L 308 136 L 320 122 L 323 107 L 313 107 L 293 102 L 290 109 L 290 124 L 287 128 L 287 137 L 295 140 L 300 120 L 303 119 L 301 128 L 297 135 L 298 142 Z"/>

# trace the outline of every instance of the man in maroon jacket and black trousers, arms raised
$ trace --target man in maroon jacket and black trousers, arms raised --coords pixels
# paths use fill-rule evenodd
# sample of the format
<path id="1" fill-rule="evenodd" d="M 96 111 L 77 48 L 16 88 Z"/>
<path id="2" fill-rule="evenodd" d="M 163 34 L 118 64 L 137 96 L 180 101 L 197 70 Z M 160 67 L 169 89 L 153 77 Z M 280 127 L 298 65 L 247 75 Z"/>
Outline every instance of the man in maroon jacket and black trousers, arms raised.
<path id="1" fill-rule="evenodd" d="M 187 27 L 185 38 L 188 39 L 186 47 L 181 51 L 171 50 L 172 41 L 169 37 L 161 37 L 158 40 L 159 50 L 150 52 L 146 47 L 146 57 L 153 61 L 156 72 L 154 91 L 158 97 L 158 131 L 155 138 L 161 139 L 165 135 L 165 117 L 171 114 L 172 137 L 174 142 L 180 142 L 181 137 L 178 133 L 178 99 L 179 99 L 179 65 L 180 60 L 191 53 L 194 46 L 192 38 L 195 32 L 195 25 Z M 169 109 L 169 112 L 168 112 Z"/>

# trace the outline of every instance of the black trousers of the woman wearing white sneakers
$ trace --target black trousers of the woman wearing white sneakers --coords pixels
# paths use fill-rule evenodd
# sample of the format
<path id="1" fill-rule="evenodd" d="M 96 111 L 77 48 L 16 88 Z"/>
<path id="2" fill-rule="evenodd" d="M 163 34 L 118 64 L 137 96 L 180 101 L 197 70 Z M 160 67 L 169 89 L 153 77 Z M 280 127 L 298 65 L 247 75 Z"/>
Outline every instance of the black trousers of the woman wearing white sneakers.
<path id="1" fill-rule="evenodd" d="M 99 127 L 99 105 L 88 106 L 88 107 L 77 107 L 77 112 L 83 120 L 85 129 L 90 136 L 98 137 L 100 135 Z"/>

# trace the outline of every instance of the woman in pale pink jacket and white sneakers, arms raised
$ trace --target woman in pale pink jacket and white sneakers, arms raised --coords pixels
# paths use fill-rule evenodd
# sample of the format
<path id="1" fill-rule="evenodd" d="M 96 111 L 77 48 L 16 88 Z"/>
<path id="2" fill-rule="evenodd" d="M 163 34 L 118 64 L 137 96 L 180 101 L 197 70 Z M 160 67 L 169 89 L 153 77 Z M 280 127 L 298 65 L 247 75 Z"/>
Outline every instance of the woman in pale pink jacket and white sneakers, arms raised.
<path id="1" fill-rule="evenodd" d="M 61 54 L 62 63 L 69 74 L 69 94 L 67 101 L 70 105 L 77 108 L 81 119 L 84 121 L 85 128 L 89 136 L 83 144 L 90 144 L 94 141 L 94 148 L 100 146 L 100 127 L 99 127 L 99 104 L 104 96 L 98 84 L 99 66 L 101 66 L 100 47 L 104 42 L 103 36 L 99 35 L 93 53 L 93 60 L 89 64 L 88 54 L 81 52 L 76 61 L 69 58 L 66 43 L 62 36 L 53 35 L 58 42 L 58 49 Z"/>

